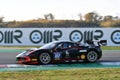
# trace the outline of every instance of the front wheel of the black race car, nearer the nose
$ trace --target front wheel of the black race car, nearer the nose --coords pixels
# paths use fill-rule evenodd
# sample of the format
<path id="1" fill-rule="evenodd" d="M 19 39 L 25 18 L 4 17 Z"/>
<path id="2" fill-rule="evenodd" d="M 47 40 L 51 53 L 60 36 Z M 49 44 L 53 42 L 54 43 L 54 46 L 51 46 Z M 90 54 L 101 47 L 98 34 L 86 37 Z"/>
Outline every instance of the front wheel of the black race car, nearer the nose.
<path id="1" fill-rule="evenodd" d="M 40 64 L 49 64 L 51 62 L 51 56 L 49 53 L 41 53 L 39 56 Z"/>

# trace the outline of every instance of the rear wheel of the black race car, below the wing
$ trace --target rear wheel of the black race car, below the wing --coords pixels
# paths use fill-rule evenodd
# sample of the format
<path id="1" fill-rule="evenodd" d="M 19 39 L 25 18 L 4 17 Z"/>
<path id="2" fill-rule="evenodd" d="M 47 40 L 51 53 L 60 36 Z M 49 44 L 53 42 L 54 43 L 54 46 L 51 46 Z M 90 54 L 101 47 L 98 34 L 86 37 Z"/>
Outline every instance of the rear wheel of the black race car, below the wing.
<path id="1" fill-rule="evenodd" d="M 95 51 L 89 51 L 86 55 L 86 61 L 87 62 L 95 62 L 98 60 L 98 54 Z"/>

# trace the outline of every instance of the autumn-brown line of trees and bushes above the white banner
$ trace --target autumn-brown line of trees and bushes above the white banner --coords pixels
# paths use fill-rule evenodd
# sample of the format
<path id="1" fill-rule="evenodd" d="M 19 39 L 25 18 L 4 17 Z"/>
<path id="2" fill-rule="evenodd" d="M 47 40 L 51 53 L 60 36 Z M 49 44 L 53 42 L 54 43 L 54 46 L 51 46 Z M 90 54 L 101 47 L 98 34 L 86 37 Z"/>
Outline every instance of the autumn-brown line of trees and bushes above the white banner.
<path id="1" fill-rule="evenodd" d="M 96 12 L 86 13 L 84 16 L 79 14 L 79 20 L 56 20 L 52 13 L 45 14 L 44 18 L 27 21 L 4 22 L 4 17 L 0 17 L 1 28 L 46 28 L 46 27 L 120 27 L 118 16 L 101 16 Z"/>

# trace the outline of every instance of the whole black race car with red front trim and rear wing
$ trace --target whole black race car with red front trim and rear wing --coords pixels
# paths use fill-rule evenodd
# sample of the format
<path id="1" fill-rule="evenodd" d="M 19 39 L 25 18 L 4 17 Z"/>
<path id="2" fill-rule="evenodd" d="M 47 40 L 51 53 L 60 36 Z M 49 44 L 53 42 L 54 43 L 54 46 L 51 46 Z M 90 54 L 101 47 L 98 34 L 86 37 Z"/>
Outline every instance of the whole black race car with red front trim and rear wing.
<path id="1" fill-rule="evenodd" d="M 102 57 L 101 45 L 106 40 L 86 41 L 85 44 L 70 41 L 55 41 L 40 48 L 27 49 L 16 56 L 17 63 L 50 64 L 64 62 L 95 62 Z"/>

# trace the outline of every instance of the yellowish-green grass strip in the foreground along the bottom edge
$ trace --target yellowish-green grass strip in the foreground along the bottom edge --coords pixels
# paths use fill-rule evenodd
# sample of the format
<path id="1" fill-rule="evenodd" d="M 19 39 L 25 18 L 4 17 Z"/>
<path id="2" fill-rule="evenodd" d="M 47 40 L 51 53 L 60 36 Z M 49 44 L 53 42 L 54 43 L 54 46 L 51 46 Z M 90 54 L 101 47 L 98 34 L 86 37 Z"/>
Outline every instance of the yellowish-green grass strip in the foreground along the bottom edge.
<path id="1" fill-rule="evenodd" d="M 120 68 L 0 72 L 0 80 L 120 80 Z"/>

